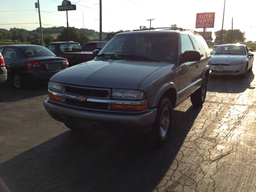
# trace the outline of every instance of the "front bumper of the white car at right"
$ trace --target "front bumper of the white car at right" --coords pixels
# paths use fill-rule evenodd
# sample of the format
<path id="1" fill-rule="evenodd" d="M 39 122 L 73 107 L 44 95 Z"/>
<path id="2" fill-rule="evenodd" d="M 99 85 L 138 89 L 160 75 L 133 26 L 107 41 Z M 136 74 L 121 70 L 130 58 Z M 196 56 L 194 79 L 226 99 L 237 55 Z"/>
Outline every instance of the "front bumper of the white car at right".
<path id="1" fill-rule="evenodd" d="M 223 71 L 215 71 L 215 67 L 223 67 Z M 236 66 L 216 66 L 211 65 L 210 70 L 212 70 L 212 74 L 214 75 L 242 75 L 244 74 L 244 70 L 246 67 L 246 63 Z"/>

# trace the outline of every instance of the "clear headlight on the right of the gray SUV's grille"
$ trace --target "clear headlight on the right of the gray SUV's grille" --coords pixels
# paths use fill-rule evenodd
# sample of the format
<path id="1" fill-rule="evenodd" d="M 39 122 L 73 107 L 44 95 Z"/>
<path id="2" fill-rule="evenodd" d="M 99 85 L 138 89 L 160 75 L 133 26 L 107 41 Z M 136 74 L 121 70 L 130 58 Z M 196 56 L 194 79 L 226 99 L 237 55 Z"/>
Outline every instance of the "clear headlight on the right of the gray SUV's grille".
<path id="1" fill-rule="evenodd" d="M 146 99 L 146 96 L 142 91 L 112 89 L 112 99 L 141 100 L 141 99 Z"/>

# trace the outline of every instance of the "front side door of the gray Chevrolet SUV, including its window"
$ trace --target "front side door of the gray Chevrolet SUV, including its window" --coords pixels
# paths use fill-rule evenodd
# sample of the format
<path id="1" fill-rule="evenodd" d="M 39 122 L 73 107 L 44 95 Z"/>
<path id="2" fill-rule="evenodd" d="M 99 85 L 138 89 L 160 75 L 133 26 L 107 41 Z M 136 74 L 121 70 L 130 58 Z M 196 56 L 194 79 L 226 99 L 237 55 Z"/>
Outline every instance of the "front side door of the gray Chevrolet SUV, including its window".
<path id="1" fill-rule="evenodd" d="M 190 36 L 181 34 L 181 53 L 189 50 L 195 50 Z M 178 101 L 187 98 L 194 92 L 194 83 L 198 77 L 198 62 L 184 62 L 179 66 L 179 86 L 178 86 Z"/>

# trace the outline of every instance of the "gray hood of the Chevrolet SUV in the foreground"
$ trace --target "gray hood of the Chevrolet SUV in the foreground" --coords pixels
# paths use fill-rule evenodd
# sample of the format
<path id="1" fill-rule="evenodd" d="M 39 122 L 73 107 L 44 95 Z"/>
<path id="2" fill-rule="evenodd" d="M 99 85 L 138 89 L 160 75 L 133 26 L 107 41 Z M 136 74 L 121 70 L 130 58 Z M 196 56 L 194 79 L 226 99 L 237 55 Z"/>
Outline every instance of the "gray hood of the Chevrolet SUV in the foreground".
<path id="1" fill-rule="evenodd" d="M 104 88 L 138 89 L 142 80 L 166 63 L 134 60 L 92 60 L 52 76 L 50 81 Z"/>

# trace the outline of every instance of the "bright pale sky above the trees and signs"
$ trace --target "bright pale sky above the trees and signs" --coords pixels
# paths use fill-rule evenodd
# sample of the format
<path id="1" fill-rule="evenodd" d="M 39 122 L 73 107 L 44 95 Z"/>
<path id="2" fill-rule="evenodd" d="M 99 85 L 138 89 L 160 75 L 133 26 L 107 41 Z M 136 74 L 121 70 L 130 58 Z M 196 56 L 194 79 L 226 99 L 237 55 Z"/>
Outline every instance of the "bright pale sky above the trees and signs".
<path id="1" fill-rule="evenodd" d="M 0 0 L 0 28 L 34 30 L 40 26 L 37 0 Z M 68 11 L 68 25 L 100 31 L 99 0 L 70 0 L 76 10 Z M 58 11 L 62 0 L 39 0 L 42 27 L 67 26 L 66 11 Z M 256 41 L 253 20 L 256 0 L 226 0 L 223 29 L 246 32 L 247 41 Z M 222 28 L 224 0 L 102 0 L 102 31 L 133 30 L 140 26 L 170 27 L 203 31 L 196 28 L 196 14 L 215 12 L 214 32 Z M 84 23 L 83 23 L 84 17 Z"/>

